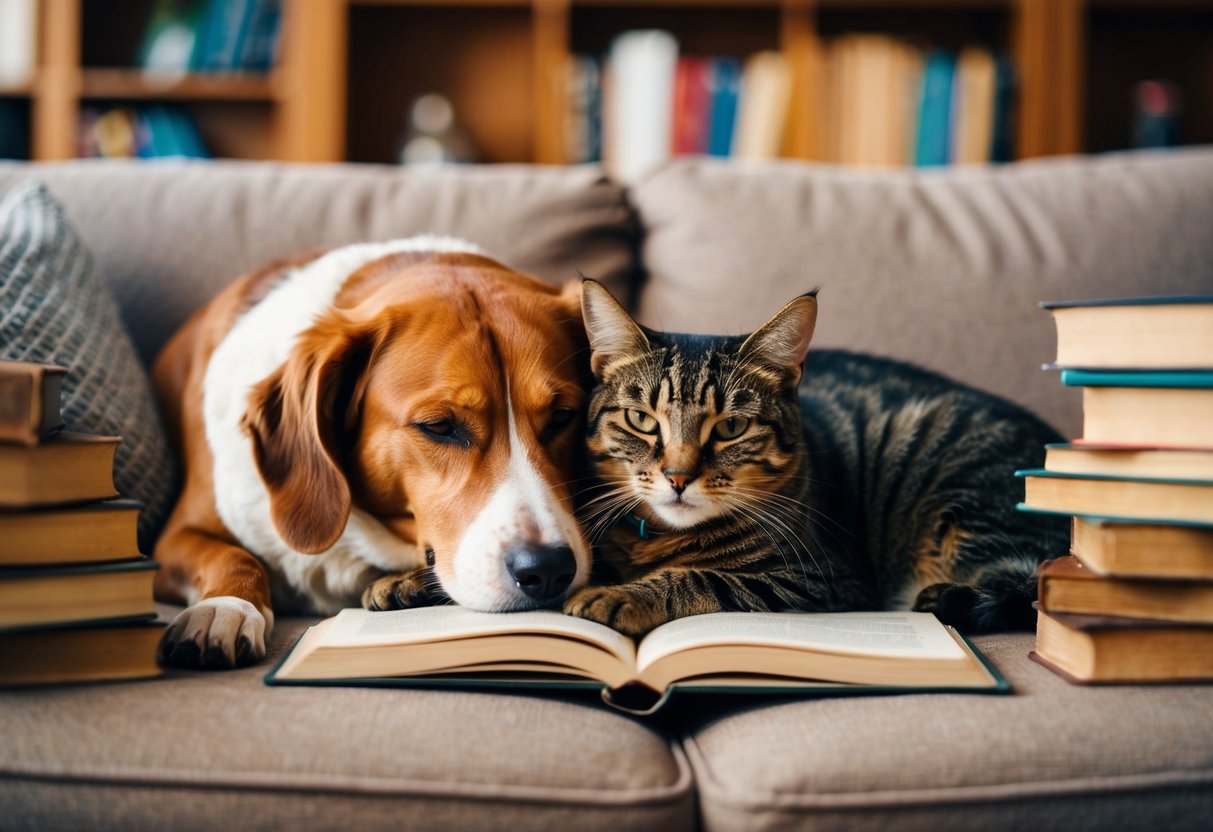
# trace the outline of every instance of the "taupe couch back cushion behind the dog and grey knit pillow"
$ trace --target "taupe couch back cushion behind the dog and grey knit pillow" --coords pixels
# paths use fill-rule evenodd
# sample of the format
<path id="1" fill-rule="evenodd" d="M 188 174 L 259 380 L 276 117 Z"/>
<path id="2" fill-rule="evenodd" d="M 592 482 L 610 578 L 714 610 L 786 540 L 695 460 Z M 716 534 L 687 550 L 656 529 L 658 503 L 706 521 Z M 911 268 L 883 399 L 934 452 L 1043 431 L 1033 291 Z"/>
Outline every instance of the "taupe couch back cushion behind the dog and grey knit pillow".
<path id="1" fill-rule="evenodd" d="M 451 234 L 553 283 L 580 269 L 631 286 L 631 215 L 593 166 L 0 163 L 0 190 L 29 176 L 66 206 L 146 361 L 245 270 L 319 246 Z"/>

